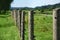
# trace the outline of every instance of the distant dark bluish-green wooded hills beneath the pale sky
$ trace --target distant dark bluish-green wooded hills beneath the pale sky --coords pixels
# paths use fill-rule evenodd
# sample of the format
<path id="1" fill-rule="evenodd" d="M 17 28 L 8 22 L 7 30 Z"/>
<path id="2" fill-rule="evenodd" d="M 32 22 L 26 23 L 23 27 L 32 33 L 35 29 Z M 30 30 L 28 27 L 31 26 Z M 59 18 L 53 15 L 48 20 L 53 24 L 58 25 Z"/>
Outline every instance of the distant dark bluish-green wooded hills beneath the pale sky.
<path id="1" fill-rule="evenodd" d="M 21 10 L 52 10 L 52 9 L 59 8 L 59 7 L 60 7 L 60 3 L 54 4 L 54 5 L 37 6 L 35 8 L 11 7 L 11 10 L 13 10 L 13 9 L 21 9 Z"/>

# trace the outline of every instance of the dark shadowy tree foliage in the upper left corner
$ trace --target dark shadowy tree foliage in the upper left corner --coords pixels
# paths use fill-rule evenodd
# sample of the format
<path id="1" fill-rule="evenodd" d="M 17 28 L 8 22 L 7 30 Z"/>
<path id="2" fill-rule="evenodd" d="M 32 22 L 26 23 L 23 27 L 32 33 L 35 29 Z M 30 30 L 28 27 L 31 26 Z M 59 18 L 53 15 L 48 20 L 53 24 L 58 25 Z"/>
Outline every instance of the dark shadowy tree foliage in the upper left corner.
<path id="1" fill-rule="evenodd" d="M 0 0 L 0 13 L 1 11 L 6 12 L 10 9 L 10 4 L 13 0 Z"/>

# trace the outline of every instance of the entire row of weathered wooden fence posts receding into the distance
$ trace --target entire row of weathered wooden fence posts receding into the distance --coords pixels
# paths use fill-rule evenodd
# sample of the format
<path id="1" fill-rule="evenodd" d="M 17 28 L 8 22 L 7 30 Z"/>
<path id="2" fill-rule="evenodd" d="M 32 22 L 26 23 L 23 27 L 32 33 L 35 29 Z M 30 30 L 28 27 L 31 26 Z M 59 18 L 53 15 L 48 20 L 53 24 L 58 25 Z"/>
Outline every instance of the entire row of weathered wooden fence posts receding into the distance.
<path id="1" fill-rule="evenodd" d="M 20 30 L 21 40 L 25 40 L 25 12 L 20 10 L 13 10 L 12 17 L 16 21 L 16 25 Z M 29 39 L 34 40 L 34 12 L 28 12 L 28 30 Z M 60 9 L 53 10 L 53 40 L 60 40 Z"/>

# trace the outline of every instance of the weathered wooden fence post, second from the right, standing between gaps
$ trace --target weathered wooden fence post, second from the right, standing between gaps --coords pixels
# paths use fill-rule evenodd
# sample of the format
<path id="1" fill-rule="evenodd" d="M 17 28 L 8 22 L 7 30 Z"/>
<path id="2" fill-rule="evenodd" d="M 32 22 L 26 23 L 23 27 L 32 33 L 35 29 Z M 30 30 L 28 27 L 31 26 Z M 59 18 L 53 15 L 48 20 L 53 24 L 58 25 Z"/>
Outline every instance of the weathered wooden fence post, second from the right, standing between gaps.
<path id="1" fill-rule="evenodd" d="M 29 11 L 28 16 L 29 40 L 34 40 L 34 12 Z"/>

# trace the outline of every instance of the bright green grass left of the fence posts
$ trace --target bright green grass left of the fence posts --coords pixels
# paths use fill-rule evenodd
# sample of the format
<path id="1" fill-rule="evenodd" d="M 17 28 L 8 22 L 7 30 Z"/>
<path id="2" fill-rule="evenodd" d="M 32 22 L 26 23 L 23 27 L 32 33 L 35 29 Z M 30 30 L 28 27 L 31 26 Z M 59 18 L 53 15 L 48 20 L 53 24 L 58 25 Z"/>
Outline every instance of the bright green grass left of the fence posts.
<path id="1" fill-rule="evenodd" d="M 19 40 L 18 28 L 10 15 L 0 15 L 0 40 Z"/>

